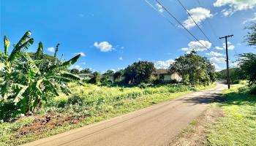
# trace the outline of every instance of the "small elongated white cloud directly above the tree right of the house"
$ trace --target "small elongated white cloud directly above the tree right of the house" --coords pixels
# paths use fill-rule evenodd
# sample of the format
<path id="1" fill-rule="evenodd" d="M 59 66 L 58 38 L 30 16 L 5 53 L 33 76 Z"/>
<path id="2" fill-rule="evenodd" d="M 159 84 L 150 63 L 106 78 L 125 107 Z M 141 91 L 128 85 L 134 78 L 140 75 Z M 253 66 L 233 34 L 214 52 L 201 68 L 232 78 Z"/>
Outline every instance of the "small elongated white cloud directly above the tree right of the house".
<path id="1" fill-rule="evenodd" d="M 189 42 L 188 47 L 183 47 L 181 48 L 181 50 L 187 51 L 187 53 L 189 53 L 192 50 L 204 51 L 206 50 L 206 48 L 207 49 L 211 48 L 211 42 L 200 40 L 199 42 L 195 42 L 195 41 Z"/>

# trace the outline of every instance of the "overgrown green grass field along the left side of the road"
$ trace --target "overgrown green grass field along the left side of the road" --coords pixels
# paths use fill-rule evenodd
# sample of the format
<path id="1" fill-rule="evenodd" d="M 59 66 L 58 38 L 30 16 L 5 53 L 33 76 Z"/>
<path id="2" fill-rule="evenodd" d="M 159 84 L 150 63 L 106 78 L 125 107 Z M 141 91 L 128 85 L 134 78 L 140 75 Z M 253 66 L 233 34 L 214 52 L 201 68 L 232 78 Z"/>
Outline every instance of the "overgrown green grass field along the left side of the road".
<path id="1" fill-rule="evenodd" d="M 72 95 L 51 99 L 34 116 L 19 118 L 12 123 L 0 123 L 0 145 L 20 145 L 49 137 L 214 85 L 199 88 L 186 85 L 124 88 L 71 84 Z M 51 120 L 42 124 L 48 115 Z"/>

